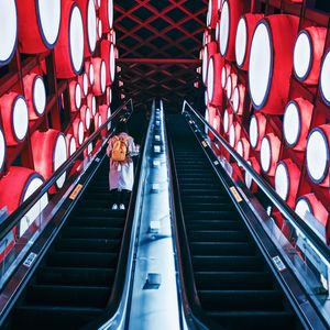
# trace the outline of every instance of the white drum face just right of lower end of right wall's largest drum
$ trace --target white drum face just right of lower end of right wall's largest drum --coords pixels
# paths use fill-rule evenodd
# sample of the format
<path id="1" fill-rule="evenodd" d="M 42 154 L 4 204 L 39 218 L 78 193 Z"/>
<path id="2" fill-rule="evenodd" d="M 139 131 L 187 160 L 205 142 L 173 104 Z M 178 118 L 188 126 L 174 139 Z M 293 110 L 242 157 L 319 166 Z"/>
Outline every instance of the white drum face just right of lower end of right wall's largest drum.
<path id="1" fill-rule="evenodd" d="M 300 135 L 300 114 L 296 102 L 289 102 L 286 107 L 283 120 L 285 141 L 289 146 L 295 146 Z"/>

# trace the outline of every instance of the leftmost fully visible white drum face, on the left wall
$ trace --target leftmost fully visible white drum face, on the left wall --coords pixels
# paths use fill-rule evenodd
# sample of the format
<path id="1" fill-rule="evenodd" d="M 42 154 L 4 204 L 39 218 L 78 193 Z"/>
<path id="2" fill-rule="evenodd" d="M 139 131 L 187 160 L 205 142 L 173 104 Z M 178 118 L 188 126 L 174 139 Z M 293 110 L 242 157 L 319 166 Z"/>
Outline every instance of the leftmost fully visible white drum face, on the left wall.
<path id="1" fill-rule="evenodd" d="M 13 106 L 13 131 L 19 141 L 25 139 L 29 128 L 29 111 L 25 100 L 18 97 Z"/>

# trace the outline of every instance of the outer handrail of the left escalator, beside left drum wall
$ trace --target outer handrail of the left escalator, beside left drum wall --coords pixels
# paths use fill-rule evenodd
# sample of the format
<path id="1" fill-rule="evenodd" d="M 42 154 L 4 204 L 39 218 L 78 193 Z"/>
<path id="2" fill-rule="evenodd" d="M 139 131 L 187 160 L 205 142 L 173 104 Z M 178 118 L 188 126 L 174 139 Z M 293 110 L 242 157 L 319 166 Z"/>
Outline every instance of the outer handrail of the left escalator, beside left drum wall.
<path id="1" fill-rule="evenodd" d="M 56 172 L 44 182 L 21 206 L 13 211 L 2 223 L 0 223 L 0 242 L 2 239 L 15 227 L 20 220 L 24 217 L 25 213 L 42 198 L 44 194 L 48 191 L 48 189 L 57 182 L 61 176 L 70 168 L 70 166 L 78 160 L 78 157 L 84 153 L 85 148 L 94 142 L 102 132 L 102 130 L 107 129 L 108 124 L 117 118 L 117 116 L 122 111 L 128 109 L 128 105 L 131 107 L 131 111 L 133 111 L 133 101 L 132 99 L 127 100 L 123 105 L 121 105 L 108 120 L 99 127 L 97 131 L 95 131 L 84 143 L 76 150 L 76 152 L 66 160 Z"/>

